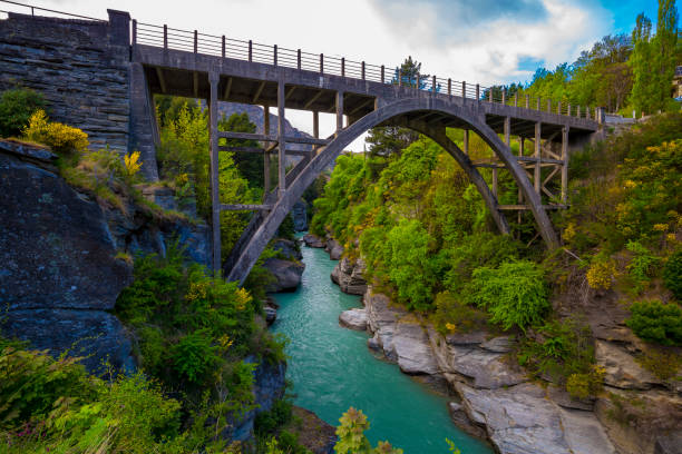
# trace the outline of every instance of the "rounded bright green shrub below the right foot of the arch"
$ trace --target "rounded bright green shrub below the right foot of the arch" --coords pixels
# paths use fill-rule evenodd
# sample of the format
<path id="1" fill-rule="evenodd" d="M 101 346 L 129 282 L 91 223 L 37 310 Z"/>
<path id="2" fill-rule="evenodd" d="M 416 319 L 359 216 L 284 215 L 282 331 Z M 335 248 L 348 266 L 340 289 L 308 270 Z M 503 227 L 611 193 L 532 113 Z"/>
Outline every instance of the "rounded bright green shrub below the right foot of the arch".
<path id="1" fill-rule="evenodd" d="M 474 270 L 470 300 L 486 308 L 504 329 L 538 324 L 549 310 L 543 270 L 533 261 L 506 261 Z"/>

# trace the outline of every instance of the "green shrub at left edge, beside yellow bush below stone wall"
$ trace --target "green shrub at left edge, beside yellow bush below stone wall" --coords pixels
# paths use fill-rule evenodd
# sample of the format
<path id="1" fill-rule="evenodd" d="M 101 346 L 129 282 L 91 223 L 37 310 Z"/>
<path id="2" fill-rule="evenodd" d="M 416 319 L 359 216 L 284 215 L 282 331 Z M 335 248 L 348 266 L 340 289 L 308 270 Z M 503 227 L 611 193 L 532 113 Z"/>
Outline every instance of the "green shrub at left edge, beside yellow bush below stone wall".
<path id="1" fill-rule="evenodd" d="M 39 109 L 45 109 L 40 93 L 26 88 L 3 91 L 0 95 L 0 137 L 19 136 Z"/>

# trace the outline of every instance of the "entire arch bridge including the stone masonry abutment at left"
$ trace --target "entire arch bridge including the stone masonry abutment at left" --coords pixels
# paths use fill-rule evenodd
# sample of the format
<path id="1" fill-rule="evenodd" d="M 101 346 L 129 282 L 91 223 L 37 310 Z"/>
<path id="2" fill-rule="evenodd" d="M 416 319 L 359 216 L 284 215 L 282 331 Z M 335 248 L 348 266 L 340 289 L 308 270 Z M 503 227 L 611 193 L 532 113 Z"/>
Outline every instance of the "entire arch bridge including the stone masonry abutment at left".
<path id="1" fill-rule="evenodd" d="M 35 11 L 50 14 L 57 11 L 0 2 L 30 11 L 9 12 L 8 20 L 0 21 L 0 41 L 10 56 L 0 56 L 3 86 L 11 83 L 12 75 L 20 75 L 27 82 L 43 89 L 41 75 L 61 75 L 62 79 L 56 80 L 61 85 L 56 85 L 57 89 L 52 89 L 50 96 L 60 111 L 64 110 L 65 118 L 85 122 L 95 136 L 104 127 L 117 122 L 115 136 L 99 134 L 100 141 L 113 142 L 120 152 L 139 150 L 143 169 L 149 179 L 158 178 L 155 156 L 158 127 L 153 95 L 206 99 L 211 131 L 214 268 L 223 263 L 220 228 L 216 228 L 220 213 L 255 211 L 223 266 L 227 279 L 241 283 L 305 188 L 344 147 L 376 126 L 408 127 L 433 139 L 476 185 L 501 233 L 509 231 L 506 211 L 529 210 L 538 234 L 549 247 L 554 247 L 558 240 L 547 210 L 566 206 L 569 150 L 597 132 L 604 119 L 601 109 L 546 99 L 522 99 L 507 96 L 499 89 L 436 76 L 403 76 L 394 67 L 140 23 L 130 20 L 124 11 L 108 10 L 108 21 L 74 14 L 65 14 L 67 19 L 46 18 L 36 16 Z M 43 47 L 42 42 L 51 46 Z M 95 52 L 92 68 L 88 67 L 84 72 L 82 62 L 77 61 L 78 56 L 67 45 L 72 46 L 75 52 Z M 56 50 L 59 46 L 65 49 Z M 39 56 L 42 60 L 31 56 Z M 114 86 L 116 88 L 111 88 Z M 103 89 L 115 95 L 103 98 Z M 74 99 L 75 102 L 70 102 L 62 91 L 81 93 L 82 101 Z M 266 134 L 220 131 L 218 101 L 263 106 Z M 89 102 L 89 106 L 84 109 L 81 102 Z M 275 135 L 269 134 L 270 108 L 276 108 L 279 114 Z M 285 134 L 286 108 L 312 112 L 314 137 L 289 137 Z M 85 111 L 96 119 L 81 118 Z M 330 137 L 319 137 L 319 112 L 335 114 L 337 128 Z M 446 128 L 464 129 L 464 149 L 446 136 Z M 490 147 L 494 159 L 470 159 L 468 142 L 471 131 Z M 519 137 L 520 152 L 517 156 L 509 147 L 512 136 Z M 261 146 L 221 147 L 218 138 L 254 139 Z M 532 145 L 527 150 L 530 152 L 523 152 L 526 142 Z M 292 144 L 306 144 L 310 151 L 301 151 Z M 222 150 L 263 156 L 266 187 L 262 204 L 228 205 L 220 200 L 217 162 Z M 286 155 L 302 155 L 303 159 L 289 172 L 280 165 L 277 187 L 270 188 L 270 160 L 275 152 L 279 162 L 285 162 Z M 490 186 L 479 172 L 481 167 L 491 169 Z M 516 205 L 499 204 L 499 171 L 508 171 L 518 186 Z M 554 178 L 561 179 L 561 194 L 553 194 L 554 189 L 549 189 L 557 186 L 548 186 Z"/>

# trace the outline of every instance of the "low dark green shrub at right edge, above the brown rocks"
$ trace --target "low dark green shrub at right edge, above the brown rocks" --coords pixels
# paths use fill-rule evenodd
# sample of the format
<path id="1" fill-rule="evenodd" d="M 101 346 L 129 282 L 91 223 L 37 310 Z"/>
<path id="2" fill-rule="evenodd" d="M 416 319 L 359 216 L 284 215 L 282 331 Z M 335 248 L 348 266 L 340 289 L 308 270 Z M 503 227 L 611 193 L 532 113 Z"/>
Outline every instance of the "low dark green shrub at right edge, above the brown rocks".
<path id="1" fill-rule="evenodd" d="M 675 303 L 642 300 L 630 306 L 626 320 L 634 334 L 661 345 L 682 345 L 682 308 Z"/>

